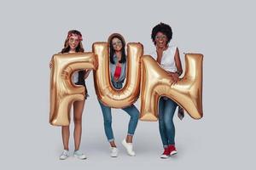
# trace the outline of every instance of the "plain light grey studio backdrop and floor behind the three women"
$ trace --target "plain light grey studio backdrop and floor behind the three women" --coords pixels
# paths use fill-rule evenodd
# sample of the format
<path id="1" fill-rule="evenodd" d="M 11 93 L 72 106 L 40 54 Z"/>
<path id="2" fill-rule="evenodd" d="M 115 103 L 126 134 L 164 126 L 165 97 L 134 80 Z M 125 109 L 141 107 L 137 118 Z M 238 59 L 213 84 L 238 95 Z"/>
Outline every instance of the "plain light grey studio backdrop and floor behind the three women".
<path id="1" fill-rule="evenodd" d="M 255 15 L 253 1 L 1 1 L 0 168 L 255 169 Z M 177 156 L 159 158 L 158 122 L 138 123 L 137 156 L 126 156 L 120 141 L 129 116 L 113 110 L 120 154 L 109 157 L 90 74 L 81 143 L 89 158 L 59 161 L 61 128 L 48 123 L 49 59 L 67 31 L 83 33 L 86 51 L 119 32 L 126 42 L 142 42 L 148 54 L 151 29 L 160 21 L 172 26 L 182 60 L 183 53 L 204 54 L 204 117 L 181 122 L 175 116 Z"/>

